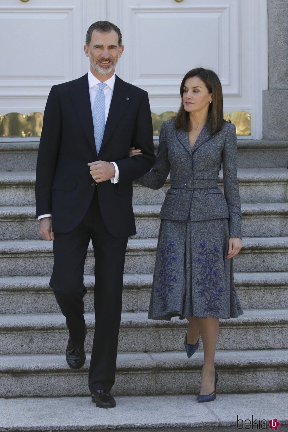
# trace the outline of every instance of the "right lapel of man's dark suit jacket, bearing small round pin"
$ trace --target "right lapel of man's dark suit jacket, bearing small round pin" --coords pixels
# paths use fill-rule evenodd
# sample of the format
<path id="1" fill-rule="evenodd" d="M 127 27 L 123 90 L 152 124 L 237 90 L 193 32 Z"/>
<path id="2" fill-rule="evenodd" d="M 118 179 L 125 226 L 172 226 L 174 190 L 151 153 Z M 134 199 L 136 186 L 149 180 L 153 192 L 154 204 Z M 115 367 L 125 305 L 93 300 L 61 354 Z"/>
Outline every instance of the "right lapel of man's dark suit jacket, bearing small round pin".
<path id="1" fill-rule="evenodd" d="M 114 131 L 115 127 L 123 117 L 124 112 L 127 110 L 128 105 L 130 104 L 131 94 L 128 91 L 129 88 L 130 84 L 125 83 L 125 81 L 122 81 L 122 79 L 120 79 L 116 75 L 111 105 L 105 125 L 101 149 L 111 137 L 112 132 Z"/>

